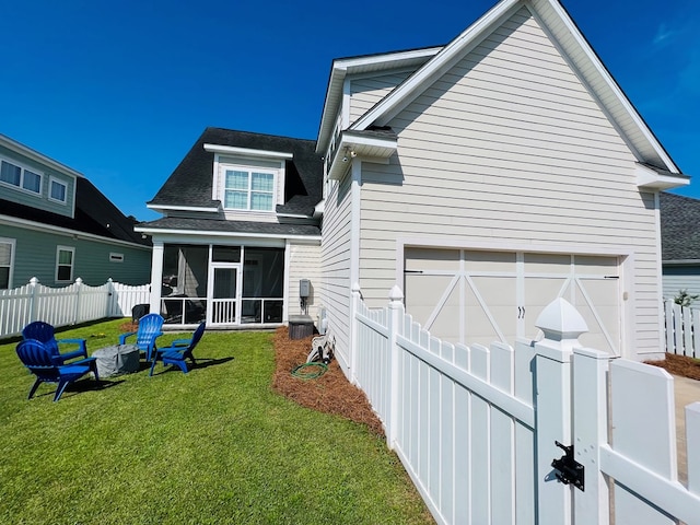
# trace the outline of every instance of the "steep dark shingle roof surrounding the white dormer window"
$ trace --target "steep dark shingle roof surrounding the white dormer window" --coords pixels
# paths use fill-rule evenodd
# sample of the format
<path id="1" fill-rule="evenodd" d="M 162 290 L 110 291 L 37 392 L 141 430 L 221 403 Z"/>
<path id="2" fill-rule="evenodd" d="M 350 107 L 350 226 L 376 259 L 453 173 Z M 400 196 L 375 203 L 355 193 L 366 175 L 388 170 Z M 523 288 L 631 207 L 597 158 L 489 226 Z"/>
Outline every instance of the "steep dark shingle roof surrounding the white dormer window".
<path id="1" fill-rule="evenodd" d="M 211 199 L 214 154 L 205 151 L 206 143 L 292 153 L 285 166 L 285 203 L 277 207 L 278 213 L 312 215 L 322 199 L 323 161 L 313 140 L 207 128 L 149 205 L 219 206 Z"/>

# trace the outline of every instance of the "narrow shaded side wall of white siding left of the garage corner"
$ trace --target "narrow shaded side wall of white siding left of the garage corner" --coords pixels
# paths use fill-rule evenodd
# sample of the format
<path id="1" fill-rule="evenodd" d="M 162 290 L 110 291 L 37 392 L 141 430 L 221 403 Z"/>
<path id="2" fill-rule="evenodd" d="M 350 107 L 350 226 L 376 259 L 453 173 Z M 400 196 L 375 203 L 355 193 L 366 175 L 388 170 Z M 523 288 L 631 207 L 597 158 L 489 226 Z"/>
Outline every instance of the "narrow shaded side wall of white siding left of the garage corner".
<path id="1" fill-rule="evenodd" d="M 328 327 L 336 337 L 336 354 L 341 366 L 348 364 L 350 337 L 350 228 L 351 176 L 332 185 L 326 198 L 324 234 L 320 246 L 323 291 L 320 305 L 327 308 Z M 385 294 L 386 295 L 386 294 Z"/>

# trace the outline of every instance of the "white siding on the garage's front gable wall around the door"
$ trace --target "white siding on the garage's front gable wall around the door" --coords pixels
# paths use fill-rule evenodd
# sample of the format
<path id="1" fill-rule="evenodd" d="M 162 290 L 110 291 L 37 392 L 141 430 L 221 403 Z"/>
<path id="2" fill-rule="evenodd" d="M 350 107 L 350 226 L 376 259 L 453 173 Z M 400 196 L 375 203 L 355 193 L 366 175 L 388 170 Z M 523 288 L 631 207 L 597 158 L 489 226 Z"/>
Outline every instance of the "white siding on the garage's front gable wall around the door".
<path id="1" fill-rule="evenodd" d="M 389 125 L 398 158 L 362 171 L 360 278 L 371 305 L 396 280 L 399 237 L 598 246 L 633 254 L 627 348 L 660 351 L 654 195 L 638 190 L 635 158 L 527 10 Z"/>

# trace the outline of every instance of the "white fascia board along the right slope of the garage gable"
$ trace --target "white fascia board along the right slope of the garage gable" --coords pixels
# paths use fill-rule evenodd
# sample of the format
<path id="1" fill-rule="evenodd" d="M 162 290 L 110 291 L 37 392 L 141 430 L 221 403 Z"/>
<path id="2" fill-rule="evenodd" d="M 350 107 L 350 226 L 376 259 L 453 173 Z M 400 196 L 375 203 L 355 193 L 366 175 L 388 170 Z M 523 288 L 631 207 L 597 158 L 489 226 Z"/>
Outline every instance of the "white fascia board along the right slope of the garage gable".
<path id="1" fill-rule="evenodd" d="M 539 7 L 539 4 L 541 4 L 542 2 L 545 3 L 545 5 Z M 627 95 L 622 92 L 622 90 L 620 89 L 618 83 L 615 81 L 615 79 L 612 79 L 607 68 L 603 65 L 603 62 L 600 61 L 598 56 L 595 54 L 591 45 L 587 43 L 587 40 L 584 38 L 584 36 L 581 34 L 581 32 L 576 27 L 576 24 L 573 22 L 573 20 L 571 20 L 571 16 L 569 16 L 569 14 L 561 7 L 561 4 L 558 1 L 552 1 L 552 0 L 540 0 L 540 1 L 535 0 L 532 3 L 534 4 L 533 9 L 535 10 L 542 9 L 542 8 L 551 9 L 557 13 L 559 19 L 562 21 L 562 23 L 567 27 L 569 34 L 578 45 L 578 47 L 581 50 L 583 50 L 586 58 L 594 66 L 596 72 L 600 75 L 600 78 L 603 79 L 607 88 L 615 95 L 618 104 L 623 108 L 623 110 L 627 113 L 629 118 L 634 122 L 635 127 L 640 130 L 640 132 L 643 135 L 646 141 L 652 145 L 652 148 L 654 149 L 656 154 L 660 156 L 660 159 L 664 161 L 664 164 L 666 165 L 668 171 L 673 173 L 680 173 L 680 170 L 678 170 L 678 167 L 676 166 L 676 163 L 670 159 L 670 156 L 668 156 L 668 154 L 666 153 L 664 148 L 661 145 L 656 137 L 654 137 L 654 133 L 652 132 L 652 130 L 649 128 L 649 126 L 646 126 L 646 124 L 644 122 L 640 114 L 637 112 L 634 106 L 632 106 Z M 567 46 L 564 48 L 568 52 L 572 52 L 571 46 L 572 46 L 571 42 L 567 43 Z M 596 95 L 600 100 L 600 94 L 596 93 Z M 608 108 L 608 113 L 611 114 L 609 108 Z"/>

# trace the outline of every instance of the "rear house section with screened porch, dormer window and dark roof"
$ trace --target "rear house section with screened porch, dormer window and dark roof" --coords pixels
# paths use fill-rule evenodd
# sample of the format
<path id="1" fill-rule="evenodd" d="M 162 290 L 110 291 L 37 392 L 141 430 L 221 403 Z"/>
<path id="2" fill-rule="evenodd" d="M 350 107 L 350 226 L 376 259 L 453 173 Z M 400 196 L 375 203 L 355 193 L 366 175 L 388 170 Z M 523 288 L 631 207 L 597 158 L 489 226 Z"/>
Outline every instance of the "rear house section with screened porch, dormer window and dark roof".
<path id="1" fill-rule="evenodd" d="M 279 326 L 316 314 L 322 167 L 312 140 L 207 128 L 149 208 L 151 311 L 168 324 Z M 310 281 L 302 304 L 300 281 Z"/>

